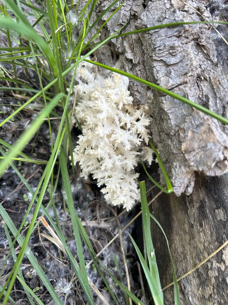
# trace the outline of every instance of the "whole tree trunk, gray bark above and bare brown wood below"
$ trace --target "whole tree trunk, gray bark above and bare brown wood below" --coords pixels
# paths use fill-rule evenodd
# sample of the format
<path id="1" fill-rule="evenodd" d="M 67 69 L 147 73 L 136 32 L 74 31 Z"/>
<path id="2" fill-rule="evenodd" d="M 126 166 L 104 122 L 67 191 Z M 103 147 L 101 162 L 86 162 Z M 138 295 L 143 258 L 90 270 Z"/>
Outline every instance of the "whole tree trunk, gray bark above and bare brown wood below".
<path id="1" fill-rule="evenodd" d="M 107 22 L 101 39 L 128 20 L 124 32 L 171 22 L 205 21 L 205 18 L 227 21 L 226 0 L 188 1 L 188 4 L 192 7 L 180 0 L 126 0 Z M 108 0 L 98 1 L 97 14 L 109 5 Z M 104 18 L 108 16 L 107 13 Z M 218 24 L 214 28 L 211 24 L 181 25 L 128 35 L 100 48 L 97 56 L 109 65 L 115 65 L 116 59 L 121 58 L 126 72 L 227 118 L 228 53 L 217 30 L 228 38 L 227 26 Z M 130 81 L 135 104 L 145 102 L 148 89 Z M 228 129 L 158 91 L 153 91 L 151 115 L 153 141 L 174 187 L 174 194 L 161 195 L 152 211 L 167 233 L 177 276 L 181 276 L 227 239 L 227 180 L 207 176 L 219 176 L 228 170 Z M 162 174 L 160 178 L 164 182 Z M 164 286 L 172 281 L 167 246 L 156 224 L 151 224 L 151 231 Z M 182 279 L 181 303 L 227 304 L 227 264 L 228 250 L 224 248 Z M 165 291 L 165 304 L 173 303 L 169 288 Z"/>

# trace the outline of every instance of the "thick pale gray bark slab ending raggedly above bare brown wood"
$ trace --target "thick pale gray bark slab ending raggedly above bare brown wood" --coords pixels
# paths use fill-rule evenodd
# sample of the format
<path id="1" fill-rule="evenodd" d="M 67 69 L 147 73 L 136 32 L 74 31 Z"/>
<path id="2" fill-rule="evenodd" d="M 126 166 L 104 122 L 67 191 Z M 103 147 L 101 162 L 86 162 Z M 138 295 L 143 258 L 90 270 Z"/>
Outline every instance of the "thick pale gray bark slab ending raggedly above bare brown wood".
<path id="1" fill-rule="evenodd" d="M 209 9 L 205 8 L 207 4 L 209 1 L 198 1 L 197 9 L 211 20 Z M 137 25 L 149 27 L 201 19 L 197 12 L 180 1 L 152 1 Z M 217 57 L 215 34 L 210 25 L 164 28 L 142 34 L 140 38 L 144 60 L 151 62 L 145 66 L 149 81 L 155 80 L 161 87 L 227 117 L 228 80 Z M 195 171 L 212 176 L 227 172 L 227 127 L 158 92 L 154 92 L 151 111 L 153 139 L 176 195 L 192 192 Z"/>

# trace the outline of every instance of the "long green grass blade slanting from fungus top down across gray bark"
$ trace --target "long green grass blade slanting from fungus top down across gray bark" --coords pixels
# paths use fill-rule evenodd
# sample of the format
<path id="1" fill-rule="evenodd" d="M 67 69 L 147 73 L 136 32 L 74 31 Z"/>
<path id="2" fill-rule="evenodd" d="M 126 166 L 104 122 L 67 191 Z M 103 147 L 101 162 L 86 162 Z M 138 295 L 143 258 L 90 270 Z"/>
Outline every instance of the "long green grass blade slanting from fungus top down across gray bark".
<path id="1" fill-rule="evenodd" d="M 92 63 L 95 66 L 99 66 L 99 67 L 104 68 L 106 70 L 109 70 L 109 71 L 121 74 L 121 75 L 126 76 L 126 77 L 128 77 L 130 79 L 133 79 L 134 81 L 137 81 L 137 82 L 139 82 L 141 84 L 144 84 L 144 85 L 146 85 L 146 86 L 148 86 L 150 88 L 153 88 L 153 89 L 155 89 L 157 91 L 160 91 L 160 92 L 164 93 L 165 95 L 169 95 L 169 96 L 171 96 L 174 99 L 177 99 L 177 100 L 179 100 L 179 101 L 181 101 L 181 102 L 183 102 L 183 103 L 185 103 L 185 104 L 187 104 L 187 105 L 189 105 L 191 107 L 194 107 L 195 109 L 198 109 L 198 110 L 208 114 L 209 116 L 219 120 L 223 124 L 228 125 L 228 119 L 226 119 L 224 117 L 221 117 L 217 113 L 214 113 L 213 111 L 211 111 L 209 109 L 206 109 L 205 107 L 200 106 L 199 104 L 196 104 L 196 103 L 190 101 L 189 99 L 186 99 L 183 96 L 180 96 L 180 95 L 178 95 L 178 94 L 176 94 L 176 93 L 174 93 L 172 91 L 169 91 L 169 90 L 167 90 L 165 88 L 162 88 L 162 87 L 160 87 L 160 86 L 158 86 L 156 84 L 150 83 L 149 81 L 145 81 L 144 79 L 142 79 L 140 77 L 137 77 L 137 76 L 134 76 L 134 75 L 132 75 L 130 73 L 118 70 L 116 68 L 112 68 L 110 66 L 103 65 L 102 63 L 97 63 L 97 62 L 94 62 L 94 61 L 88 60 L 88 59 L 84 59 L 84 60 L 86 62 L 88 62 L 88 63 Z"/>

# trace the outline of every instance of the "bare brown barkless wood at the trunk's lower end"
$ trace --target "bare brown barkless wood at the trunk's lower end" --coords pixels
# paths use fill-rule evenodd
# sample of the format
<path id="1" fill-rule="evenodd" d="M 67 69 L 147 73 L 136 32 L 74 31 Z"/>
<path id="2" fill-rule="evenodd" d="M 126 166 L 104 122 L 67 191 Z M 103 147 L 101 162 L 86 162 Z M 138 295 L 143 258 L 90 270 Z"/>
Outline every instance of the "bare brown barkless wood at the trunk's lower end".
<path id="1" fill-rule="evenodd" d="M 150 182 L 147 181 L 147 189 Z M 150 198 L 157 193 L 151 194 Z M 177 278 L 181 277 L 228 239 L 228 179 L 197 175 L 191 195 L 161 194 L 151 213 L 163 227 Z M 173 281 L 164 236 L 151 222 L 151 234 L 162 287 Z M 228 304 L 228 246 L 179 282 L 181 304 Z M 173 286 L 164 290 L 164 303 L 174 304 Z"/>

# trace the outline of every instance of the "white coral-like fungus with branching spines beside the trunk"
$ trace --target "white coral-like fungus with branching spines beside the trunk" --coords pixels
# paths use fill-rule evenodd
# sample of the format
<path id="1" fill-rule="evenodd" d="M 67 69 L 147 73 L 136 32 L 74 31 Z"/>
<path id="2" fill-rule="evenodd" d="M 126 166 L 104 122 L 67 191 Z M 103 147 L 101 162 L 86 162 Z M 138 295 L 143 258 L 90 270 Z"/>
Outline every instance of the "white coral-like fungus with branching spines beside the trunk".
<path id="1" fill-rule="evenodd" d="M 82 135 L 74 149 L 74 164 L 79 162 L 83 177 L 92 174 L 97 179 L 107 202 L 130 210 L 139 198 L 134 168 L 140 142 L 148 143 L 149 107 L 132 105 L 127 77 L 114 73 L 105 80 L 94 79 L 84 68 L 79 74 L 82 82 L 76 86 L 75 115 Z"/>

